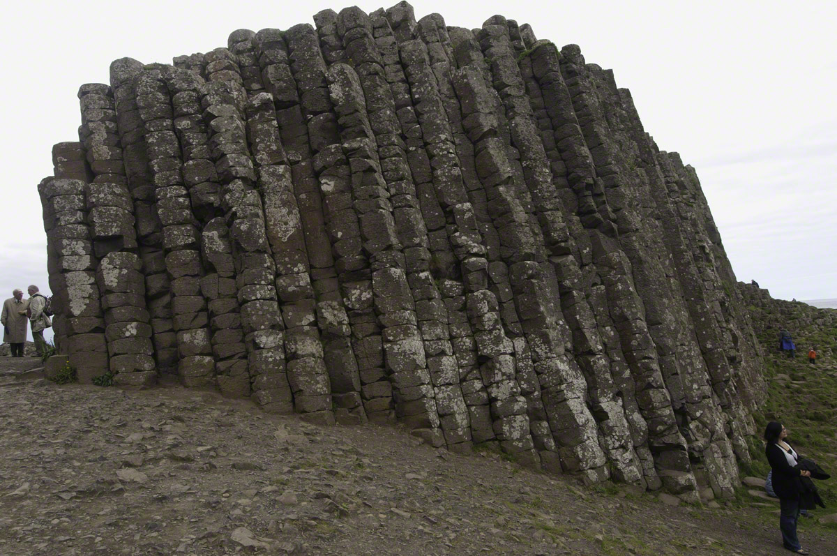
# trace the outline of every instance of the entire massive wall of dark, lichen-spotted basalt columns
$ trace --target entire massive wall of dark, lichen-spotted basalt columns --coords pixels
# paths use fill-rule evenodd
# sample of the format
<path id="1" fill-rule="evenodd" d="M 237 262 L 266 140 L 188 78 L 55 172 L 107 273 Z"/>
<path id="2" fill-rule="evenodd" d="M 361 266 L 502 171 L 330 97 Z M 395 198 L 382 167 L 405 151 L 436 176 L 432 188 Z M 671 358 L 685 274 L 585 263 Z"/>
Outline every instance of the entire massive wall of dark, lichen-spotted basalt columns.
<path id="1" fill-rule="evenodd" d="M 314 21 L 81 87 L 39 187 L 80 377 L 730 495 L 757 347 L 694 170 L 628 90 L 501 16 Z"/>

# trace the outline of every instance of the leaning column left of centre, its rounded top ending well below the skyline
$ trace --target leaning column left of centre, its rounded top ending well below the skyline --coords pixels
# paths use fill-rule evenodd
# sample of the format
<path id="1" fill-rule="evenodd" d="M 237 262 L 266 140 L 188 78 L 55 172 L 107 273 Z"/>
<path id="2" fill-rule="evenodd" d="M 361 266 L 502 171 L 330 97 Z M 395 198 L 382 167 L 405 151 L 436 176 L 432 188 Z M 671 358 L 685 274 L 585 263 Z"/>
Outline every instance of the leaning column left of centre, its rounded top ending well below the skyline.
<path id="1" fill-rule="evenodd" d="M 342 148 L 352 183 L 351 206 L 359 232 L 357 268 L 347 276 L 355 280 L 341 279 L 357 319 L 362 320 L 362 326 L 353 327 L 353 332 L 366 331 L 367 337 L 381 334 L 398 417 L 413 429 L 429 430 L 431 441 L 437 443 L 442 441 L 437 435 L 439 416 L 424 344 L 362 85 L 357 73 L 346 64 L 333 65 L 326 77 L 344 139 Z"/>

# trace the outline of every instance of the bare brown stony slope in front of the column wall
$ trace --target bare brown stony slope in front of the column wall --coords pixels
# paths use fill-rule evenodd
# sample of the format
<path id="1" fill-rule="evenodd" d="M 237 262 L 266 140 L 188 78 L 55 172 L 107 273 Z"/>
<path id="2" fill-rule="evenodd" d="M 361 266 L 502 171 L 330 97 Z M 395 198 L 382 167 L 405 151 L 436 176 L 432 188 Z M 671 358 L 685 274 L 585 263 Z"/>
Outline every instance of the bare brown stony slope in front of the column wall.
<path id="1" fill-rule="evenodd" d="M 58 386 L 38 364 L 0 359 L 3 554 L 787 553 L 775 502 L 746 494 L 674 507 L 392 427 L 320 428 L 177 386 Z M 837 553 L 815 522 L 804 546 Z"/>

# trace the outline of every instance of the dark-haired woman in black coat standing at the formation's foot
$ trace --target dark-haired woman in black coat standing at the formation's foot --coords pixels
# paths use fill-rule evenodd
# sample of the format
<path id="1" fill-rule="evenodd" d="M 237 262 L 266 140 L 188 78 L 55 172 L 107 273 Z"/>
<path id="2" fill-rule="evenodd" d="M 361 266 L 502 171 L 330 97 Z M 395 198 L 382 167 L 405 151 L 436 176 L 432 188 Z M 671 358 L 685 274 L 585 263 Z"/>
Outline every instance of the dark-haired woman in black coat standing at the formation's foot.
<path id="1" fill-rule="evenodd" d="M 784 548 L 795 553 L 807 554 L 808 551 L 799 544 L 796 537 L 796 523 L 799 517 L 800 476 L 811 476 L 810 471 L 801 471 L 795 466 L 799 456 L 785 442 L 788 430 L 781 423 L 771 421 L 764 430 L 764 440 L 768 445 L 764 453 L 768 456 L 770 468 L 773 470 L 773 491 L 779 497 L 779 529 L 782 530 Z"/>

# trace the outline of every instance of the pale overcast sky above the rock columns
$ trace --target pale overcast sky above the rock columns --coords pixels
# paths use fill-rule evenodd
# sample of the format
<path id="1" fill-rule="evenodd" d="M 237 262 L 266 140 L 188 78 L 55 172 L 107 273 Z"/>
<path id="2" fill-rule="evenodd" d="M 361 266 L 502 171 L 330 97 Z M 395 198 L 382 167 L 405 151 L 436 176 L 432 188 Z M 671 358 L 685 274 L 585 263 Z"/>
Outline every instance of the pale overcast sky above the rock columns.
<path id="1" fill-rule="evenodd" d="M 393 2 L 394 3 L 394 2 Z M 225 47 L 237 28 L 313 23 L 351 3 L 110 0 L 3 8 L 0 299 L 47 290 L 36 186 L 55 142 L 77 141 L 76 91 L 113 59 L 171 63 Z M 381 7 L 360 2 L 367 12 Z M 388 7 L 387 4 L 384 7 Z M 696 167 L 739 280 L 774 297 L 837 297 L 837 3 L 413 2 L 417 18 L 480 27 L 496 13 L 579 44 L 614 69 L 661 149 Z"/>

